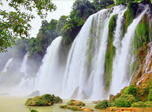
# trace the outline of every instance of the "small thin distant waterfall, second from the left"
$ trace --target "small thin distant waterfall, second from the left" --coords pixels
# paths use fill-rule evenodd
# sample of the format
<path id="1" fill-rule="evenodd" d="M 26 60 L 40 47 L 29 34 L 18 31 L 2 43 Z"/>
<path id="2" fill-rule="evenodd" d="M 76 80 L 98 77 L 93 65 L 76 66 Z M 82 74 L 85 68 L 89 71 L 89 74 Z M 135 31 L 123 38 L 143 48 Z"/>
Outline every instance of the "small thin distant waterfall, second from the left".
<path id="1" fill-rule="evenodd" d="M 28 59 L 28 52 L 25 54 L 20 68 L 20 72 L 23 72 L 25 76 L 27 76 L 27 59 Z"/>

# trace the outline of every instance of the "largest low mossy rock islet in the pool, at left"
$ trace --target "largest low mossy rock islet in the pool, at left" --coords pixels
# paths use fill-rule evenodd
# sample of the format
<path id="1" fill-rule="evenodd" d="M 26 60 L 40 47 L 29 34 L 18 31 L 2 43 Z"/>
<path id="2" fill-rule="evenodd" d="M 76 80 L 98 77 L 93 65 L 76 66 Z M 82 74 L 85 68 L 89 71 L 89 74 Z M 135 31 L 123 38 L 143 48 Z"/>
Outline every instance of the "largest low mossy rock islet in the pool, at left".
<path id="1" fill-rule="evenodd" d="M 26 106 L 51 106 L 54 103 L 62 103 L 60 97 L 54 95 L 45 94 L 43 96 L 36 96 L 34 98 L 28 98 L 25 102 Z"/>

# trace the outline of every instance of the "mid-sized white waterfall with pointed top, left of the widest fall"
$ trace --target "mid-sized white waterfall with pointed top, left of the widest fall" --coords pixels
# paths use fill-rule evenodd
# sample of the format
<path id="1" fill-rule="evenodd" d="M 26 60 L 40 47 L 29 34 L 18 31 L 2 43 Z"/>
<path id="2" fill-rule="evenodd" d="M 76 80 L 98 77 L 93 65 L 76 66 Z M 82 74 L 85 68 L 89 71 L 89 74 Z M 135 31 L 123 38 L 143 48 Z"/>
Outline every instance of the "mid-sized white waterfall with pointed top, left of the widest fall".
<path id="1" fill-rule="evenodd" d="M 43 64 L 37 73 L 34 90 L 40 94 L 50 93 L 60 95 L 63 70 L 59 63 L 59 51 L 62 37 L 57 37 L 47 48 L 42 60 Z"/>

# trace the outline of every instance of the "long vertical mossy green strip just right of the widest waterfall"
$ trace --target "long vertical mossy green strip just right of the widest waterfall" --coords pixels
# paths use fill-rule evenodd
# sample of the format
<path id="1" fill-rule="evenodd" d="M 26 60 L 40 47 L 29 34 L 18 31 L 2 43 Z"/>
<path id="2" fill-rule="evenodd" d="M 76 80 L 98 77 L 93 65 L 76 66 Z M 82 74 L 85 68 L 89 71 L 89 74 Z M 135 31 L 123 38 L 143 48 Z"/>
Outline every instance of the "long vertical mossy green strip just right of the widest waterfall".
<path id="1" fill-rule="evenodd" d="M 114 40 L 114 31 L 116 27 L 116 20 L 117 20 L 117 14 L 113 15 L 109 21 L 109 32 L 108 32 L 108 45 L 107 45 L 107 51 L 106 51 L 106 67 L 105 67 L 105 87 L 106 89 L 110 86 L 111 81 L 111 74 L 112 74 L 112 62 L 113 57 L 115 55 L 115 47 L 113 46 L 113 40 Z"/>

